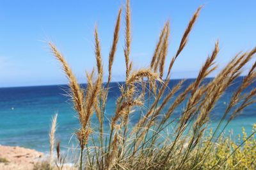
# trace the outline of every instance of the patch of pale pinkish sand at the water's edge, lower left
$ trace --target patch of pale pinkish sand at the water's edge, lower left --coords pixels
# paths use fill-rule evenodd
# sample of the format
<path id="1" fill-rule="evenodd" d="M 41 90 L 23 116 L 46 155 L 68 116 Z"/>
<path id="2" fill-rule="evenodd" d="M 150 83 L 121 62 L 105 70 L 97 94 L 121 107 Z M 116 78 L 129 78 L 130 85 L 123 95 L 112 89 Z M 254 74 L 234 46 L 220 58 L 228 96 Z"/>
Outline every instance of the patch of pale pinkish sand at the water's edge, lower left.
<path id="1" fill-rule="evenodd" d="M 7 163 L 0 162 L 1 170 L 11 169 L 33 169 L 36 162 L 42 160 L 44 153 L 19 146 L 1 146 L 0 158 L 8 160 Z"/>

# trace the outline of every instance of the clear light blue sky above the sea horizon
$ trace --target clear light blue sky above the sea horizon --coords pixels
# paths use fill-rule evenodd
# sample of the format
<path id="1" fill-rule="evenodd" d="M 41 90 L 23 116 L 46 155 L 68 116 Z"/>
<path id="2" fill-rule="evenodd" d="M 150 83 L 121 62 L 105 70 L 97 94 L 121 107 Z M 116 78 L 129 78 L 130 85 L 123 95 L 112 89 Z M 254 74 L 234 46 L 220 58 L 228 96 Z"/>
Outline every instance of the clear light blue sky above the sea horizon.
<path id="1" fill-rule="evenodd" d="M 191 31 L 188 45 L 173 66 L 171 78 L 196 77 L 218 39 L 217 71 L 237 52 L 256 46 L 255 0 L 131 0 L 134 70 L 149 66 L 166 20 L 170 20 L 168 65 L 190 18 L 200 5 L 204 8 Z M 67 83 L 60 63 L 51 54 L 48 41 L 58 46 L 79 82 L 85 83 L 85 71 L 91 71 L 95 66 L 95 25 L 99 30 L 106 77 L 108 53 L 120 6 L 125 7 L 124 0 L 0 0 L 0 87 Z M 121 24 L 113 81 L 122 81 L 125 76 L 124 13 Z M 167 69 L 165 67 L 164 71 Z"/>

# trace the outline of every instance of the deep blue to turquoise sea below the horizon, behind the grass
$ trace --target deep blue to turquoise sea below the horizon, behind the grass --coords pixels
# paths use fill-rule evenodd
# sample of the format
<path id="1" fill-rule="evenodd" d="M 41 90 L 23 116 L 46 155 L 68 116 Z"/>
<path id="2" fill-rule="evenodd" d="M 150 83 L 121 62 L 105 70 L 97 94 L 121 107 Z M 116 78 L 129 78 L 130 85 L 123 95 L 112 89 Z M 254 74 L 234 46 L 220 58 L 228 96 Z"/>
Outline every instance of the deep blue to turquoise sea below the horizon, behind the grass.
<path id="1" fill-rule="evenodd" d="M 211 78 L 205 81 L 209 80 Z M 216 126 L 218 120 L 220 120 L 225 110 L 225 103 L 228 103 L 232 92 L 236 90 L 242 80 L 243 77 L 239 77 L 221 97 L 219 103 L 216 104 L 216 108 L 211 113 L 211 127 Z M 184 88 L 192 81 L 194 80 L 186 80 Z M 177 82 L 179 80 L 172 80 L 169 86 L 173 87 Z M 115 100 L 120 94 L 118 89 L 119 83 L 111 83 L 106 108 L 106 115 L 109 118 L 115 112 Z M 256 84 L 254 83 L 246 90 L 249 92 L 255 87 Z M 68 144 L 68 142 L 70 138 L 73 138 L 71 141 L 74 141 L 76 138 L 75 136 L 72 137 L 72 133 L 76 131 L 79 124 L 76 118 L 76 111 L 73 110 L 72 103 L 67 96 L 67 91 L 67 85 L 1 88 L 0 145 L 24 146 L 41 152 L 47 152 L 49 150 L 48 132 L 51 125 L 51 117 L 54 113 L 58 113 L 57 140 L 61 141 L 62 146 L 72 145 Z M 175 113 L 179 114 L 185 104 L 181 104 L 175 110 Z M 132 118 L 132 122 L 135 123 L 136 118 Z M 97 124 L 97 118 L 92 117 L 92 122 Z M 252 125 L 255 123 L 256 104 L 252 104 L 232 121 L 226 133 L 228 133 L 229 129 L 233 129 L 234 135 L 241 134 L 241 127 L 244 127 L 249 134 L 252 131 Z"/>

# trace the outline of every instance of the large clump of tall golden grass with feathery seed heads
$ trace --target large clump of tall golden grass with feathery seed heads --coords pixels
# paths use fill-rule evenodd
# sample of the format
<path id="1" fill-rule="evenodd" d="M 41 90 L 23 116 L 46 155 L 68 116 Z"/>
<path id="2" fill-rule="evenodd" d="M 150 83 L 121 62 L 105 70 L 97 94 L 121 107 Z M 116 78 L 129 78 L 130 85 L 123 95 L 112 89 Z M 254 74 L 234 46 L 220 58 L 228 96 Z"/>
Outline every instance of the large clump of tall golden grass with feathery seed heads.
<path id="1" fill-rule="evenodd" d="M 121 94 L 116 99 L 116 108 L 113 117 L 109 120 L 109 128 L 104 128 L 106 125 L 104 118 L 122 9 L 118 11 L 115 24 L 113 44 L 109 52 L 108 73 L 103 72 L 100 39 L 95 27 L 97 72 L 93 70 L 91 73 L 86 73 L 86 89 L 77 83 L 76 76 L 72 73 L 65 57 L 56 46 L 49 43 L 52 53 L 56 59 L 60 60 L 67 75 L 70 96 L 79 118 L 80 128 L 75 132 L 81 151 L 80 159 L 77 160 L 79 169 L 227 169 L 231 159 L 233 163 L 236 162 L 236 165 L 232 164 L 234 167 L 245 165 L 243 159 L 246 150 L 250 153 L 250 159 L 255 159 L 252 155 L 255 153 L 256 146 L 252 138 L 255 131 L 250 136 L 244 135 L 241 145 L 223 138 L 222 132 L 244 108 L 255 103 L 256 89 L 250 92 L 246 92 L 245 89 L 255 81 L 256 63 L 250 67 L 240 87 L 230 98 L 218 126 L 208 133 L 210 135 L 205 132 L 209 115 L 216 108 L 216 103 L 241 75 L 244 66 L 247 66 L 246 64 L 255 57 L 256 48 L 237 53 L 209 83 L 204 83 L 203 80 L 217 68 L 216 57 L 220 48 L 216 41 L 193 83 L 183 90 L 184 80 L 171 89 L 168 87 L 172 78 L 173 64 L 186 47 L 201 8 L 196 10 L 189 21 L 179 48 L 169 64 L 165 63 L 168 57 L 170 34 L 170 23 L 166 22 L 148 67 L 134 70 L 130 58 L 131 11 L 127 1 L 124 45 L 125 82 L 120 85 Z M 164 74 L 166 65 L 168 72 Z M 107 83 L 103 83 L 104 74 L 108 74 Z M 177 117 L 173 113 L 181 104 L 184 105 L 184 110 L 180 111 Z M 140 119 L 136 125 L 131 125 L 129 118 L 134 109 L 140 110 Z M 97 127 L 92 127 L 90 118 L 93 114 L 97 115 L 99 121 L 93 122 L 98 125 Z M 168 127 L 173 127 L 171 132 L 167 131 Z M 250 147 L 244 148 L 244 143 L 249 143 L 250 145 L 246 146 Z M 89 145 L 93 149 L 89 149 Z M 250 149 L 254 152 L 251 153 Z M 220 152 L 223 154 L 221 155 Z M 235 161 L 235 159 L 238 160 Z M 253 160 L 246 166 L 248 169 L 256 167 Z"/>

